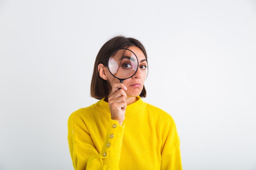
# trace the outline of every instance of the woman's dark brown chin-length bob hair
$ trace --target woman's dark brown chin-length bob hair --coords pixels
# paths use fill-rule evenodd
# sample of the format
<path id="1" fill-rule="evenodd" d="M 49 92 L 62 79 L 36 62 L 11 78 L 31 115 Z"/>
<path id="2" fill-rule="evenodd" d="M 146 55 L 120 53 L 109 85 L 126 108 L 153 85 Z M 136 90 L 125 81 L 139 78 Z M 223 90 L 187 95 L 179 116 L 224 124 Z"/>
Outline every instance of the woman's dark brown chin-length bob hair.
<path id="1" fill-rule="evenodd" d="M 92 74 L 92 82 L 91 82 L 91 96 L 96 99 L 102 99 L 103 97 L 108 97 L 109 95 L 109 87 L 106 80 L 102 79 L 99 76 L 98 65 L 102 63 L 104 66 L 107 67 L 108 57 L 109 55 L 121 48 L 129 48 L 130 46 L 137 46 L 141 51 L 144 53 L 146 57 L 146 61 L 148 62 L 148 56 L 146 53 L 146 49 L 144 48 L 143 44 L 136 40 L 135 38 L 127 38 L 124 36 L 116 36 L 108 40 L 101 49 L 96 57 L 94 63 L 94 70 Z M 146 88 L 143 86 L 141 91 L 140 97 L 146 97 Z"/>

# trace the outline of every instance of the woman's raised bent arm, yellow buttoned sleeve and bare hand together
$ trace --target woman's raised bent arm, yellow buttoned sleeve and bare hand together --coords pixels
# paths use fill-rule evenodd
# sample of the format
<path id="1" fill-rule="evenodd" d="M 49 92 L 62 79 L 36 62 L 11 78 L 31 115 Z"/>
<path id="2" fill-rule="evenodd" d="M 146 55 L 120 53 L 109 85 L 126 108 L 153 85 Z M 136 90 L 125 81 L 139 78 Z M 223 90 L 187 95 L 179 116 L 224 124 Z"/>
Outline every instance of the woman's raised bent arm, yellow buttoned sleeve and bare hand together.
<path id="1" fill-rule="evenodd" d="M 119 88 L 122 89 L 119 90 Z M 121 125 L 125 118 L 127 97 L 125 90 L 127 88 L 122 83 L 116 83 L 112 86 L 108 98 L 112 119 L 109 120 L 105 138 L 98 134 L 90 134 L 84 123 L 85 121 L 78 114 L 73 113 L 70 116 L 68 120 L 68 141 L 75 170 L 119 170 L 124 135 L 124 126 Z M 92 140 L 92 136 L 94 140 Z M 97 144 L 94 144 L 94 142 Z"/>

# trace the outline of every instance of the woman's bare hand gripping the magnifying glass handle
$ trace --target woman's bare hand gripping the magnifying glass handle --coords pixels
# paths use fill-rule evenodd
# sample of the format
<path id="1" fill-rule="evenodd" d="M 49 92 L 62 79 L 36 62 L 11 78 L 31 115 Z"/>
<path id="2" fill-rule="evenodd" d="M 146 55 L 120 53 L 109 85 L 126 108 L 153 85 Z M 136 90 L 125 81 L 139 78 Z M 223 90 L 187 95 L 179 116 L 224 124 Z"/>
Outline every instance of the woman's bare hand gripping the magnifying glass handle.
<path id="1" fill-rule="evenodd" d="M 115 83 L 112 85 L 112 90 L 110 96 L 108 97 L 111 119 L 119 121 L 120 125 L 123 124 L 125 119 L 124 114 L 127 105 L 127 95 L 125 93 L 126 90 L 127 88 L 123 83 Z"/>

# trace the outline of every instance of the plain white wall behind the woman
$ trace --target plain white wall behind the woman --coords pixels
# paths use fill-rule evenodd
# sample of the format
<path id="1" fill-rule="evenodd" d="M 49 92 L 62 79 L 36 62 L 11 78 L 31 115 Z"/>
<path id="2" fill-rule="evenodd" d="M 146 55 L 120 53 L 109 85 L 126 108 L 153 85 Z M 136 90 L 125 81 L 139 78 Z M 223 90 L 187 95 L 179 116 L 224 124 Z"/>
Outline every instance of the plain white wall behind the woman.
<path id="1" fill-rule="evenodd" d="M 114 35 L 148 52 L 184 170 L 256 170 L 255 0 L 0 0 L 0 170 L 72 170 L 69 115 Z"/>

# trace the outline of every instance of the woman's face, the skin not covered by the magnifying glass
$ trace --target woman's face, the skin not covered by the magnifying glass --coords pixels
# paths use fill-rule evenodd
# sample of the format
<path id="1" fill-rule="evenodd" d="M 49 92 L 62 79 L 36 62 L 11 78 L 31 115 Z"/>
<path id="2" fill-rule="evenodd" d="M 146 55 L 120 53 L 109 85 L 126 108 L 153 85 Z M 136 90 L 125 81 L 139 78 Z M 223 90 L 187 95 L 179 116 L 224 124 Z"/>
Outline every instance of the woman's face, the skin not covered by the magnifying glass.
<path id="1" fill-rule="evenodd" d="M 137 97 L 140 95 L 144 86 L 145 79 L 147 77 L 148 63 L 146 61 L 144 53 L 137 46 L 130 46 L 128 49 L 135 53 L 135 55 L 137 56 L 139 66 L 135 75 L 128 79 L 125 79 L 123 83 L 127 87 L 127 97 Z M 119 83 L 119 79 L 112 76 L 108 70 L 106 72 L 106 75 L 108 77 L 108 82 L 111 87 L 112 84 Z"/>

